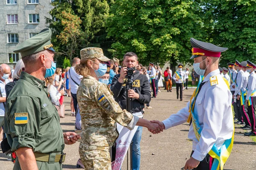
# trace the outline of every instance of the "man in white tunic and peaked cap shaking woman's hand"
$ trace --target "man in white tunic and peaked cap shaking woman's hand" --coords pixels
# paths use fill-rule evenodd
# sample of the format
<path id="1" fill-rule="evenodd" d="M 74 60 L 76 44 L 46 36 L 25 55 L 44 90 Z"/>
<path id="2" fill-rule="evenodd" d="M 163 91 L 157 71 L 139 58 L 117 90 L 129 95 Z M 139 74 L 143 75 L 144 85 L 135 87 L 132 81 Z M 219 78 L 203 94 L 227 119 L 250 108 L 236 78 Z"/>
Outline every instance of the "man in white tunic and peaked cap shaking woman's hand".
<path id="1" fill-rule="evenodd" d="M 205 77 L 200 86 L 198 86 L 198 95 L 193 95 L 195 97 L 191 100 L 192 103 L 195 100 L 194 109 L 190 108 L 191 102 L 188 102 L 185 108 L 176 114 L 172 114 L 163 122 L 152 122 L 158 122 L 162 127 L 168 129 L 190 121 L 190 124 L 192 124 L 189 128 L 188 137 L 193 140 L 193 151 L 184 168 L 189 170 L 210 170 L 214 159 L 209 156 L 211 154 L 209 151 L 214 148 L 218 150 L 224 142 L 226 143 L 233 139 L 232 94 L 229 90 L 228 82 L 221 77 L 218 69 L 221 52 L 226 51 L 227 48 L 218 47 L 193 38 L 190 39 L 190 42 L 193 47 L 191 59 L 194 59 L 193 67 L 195 72 Z M 192 115 L 194 115 L 192 119 L 190 119 L 190 109 L 193 112 Z M 195 124 L 196 121 L 198 121 L 198 124 Z M 198 129 L 201 130 L 201 132 L 196 133 L 197 136 L 195 135 L 194 127 L 196 132 L 198 132 Z M 222 163 L 224 164 L 224 162 Z"/>

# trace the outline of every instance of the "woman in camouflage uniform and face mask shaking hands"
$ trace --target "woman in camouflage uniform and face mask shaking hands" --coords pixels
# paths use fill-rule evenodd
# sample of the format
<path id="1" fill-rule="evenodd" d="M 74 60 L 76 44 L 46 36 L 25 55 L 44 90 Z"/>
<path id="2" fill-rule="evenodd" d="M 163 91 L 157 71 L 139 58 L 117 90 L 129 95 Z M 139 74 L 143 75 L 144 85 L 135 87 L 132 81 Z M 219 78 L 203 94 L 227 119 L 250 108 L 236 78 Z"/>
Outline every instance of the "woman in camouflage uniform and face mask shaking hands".
<path id="1" fill-rule="evenodd" d="M 135 125 L 153 129 L 155 133 L 163 129 L 122 110 L 108 85 L 98 81 L 98 77 L 107 71 L 104 62 L 109 60 L 101 48 L 84 48 L 80 54 L 81 61 L 76 66 L 76 72 L 84 78 L 77 90 L 77 99 L 84 133 L 81 135 L 79 154 L 85 170 L 111 170 L 109 150 L 119 136 L 116 122 L 130 130 Z"/>

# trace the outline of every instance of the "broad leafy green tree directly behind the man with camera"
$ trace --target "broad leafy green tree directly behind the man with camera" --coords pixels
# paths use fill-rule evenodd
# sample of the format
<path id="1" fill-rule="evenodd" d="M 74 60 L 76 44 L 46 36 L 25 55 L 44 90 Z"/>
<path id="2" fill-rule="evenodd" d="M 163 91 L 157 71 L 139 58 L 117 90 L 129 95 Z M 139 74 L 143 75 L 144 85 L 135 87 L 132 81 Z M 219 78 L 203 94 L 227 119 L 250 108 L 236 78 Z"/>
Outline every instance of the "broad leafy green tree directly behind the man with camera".
<path id="1" fill-rule="evenodd" d="M 189 39 L 207 37 L 200 8 L 193 0 L 116 0 L 107 23 L 109 51 L 119 59 L 133 51 L 143 64 L 186 62 Z"/>

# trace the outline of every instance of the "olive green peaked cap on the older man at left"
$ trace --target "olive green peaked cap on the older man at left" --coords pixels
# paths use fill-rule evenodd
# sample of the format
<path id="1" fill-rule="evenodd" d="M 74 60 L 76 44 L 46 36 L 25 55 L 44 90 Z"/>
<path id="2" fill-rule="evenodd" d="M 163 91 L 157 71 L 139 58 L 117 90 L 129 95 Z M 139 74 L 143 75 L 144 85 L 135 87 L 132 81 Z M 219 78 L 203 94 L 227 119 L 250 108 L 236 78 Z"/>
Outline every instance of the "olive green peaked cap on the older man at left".
<path id="1" fill-rule="evenodd" d="M 38 53 L 43 50 L 51 50 L 55 53 L 51 43 L 52 30 L 50 28 L 43 29 L 39 34 L 22 42 L 13 52 L 20 53 L 21 57 Z"/>

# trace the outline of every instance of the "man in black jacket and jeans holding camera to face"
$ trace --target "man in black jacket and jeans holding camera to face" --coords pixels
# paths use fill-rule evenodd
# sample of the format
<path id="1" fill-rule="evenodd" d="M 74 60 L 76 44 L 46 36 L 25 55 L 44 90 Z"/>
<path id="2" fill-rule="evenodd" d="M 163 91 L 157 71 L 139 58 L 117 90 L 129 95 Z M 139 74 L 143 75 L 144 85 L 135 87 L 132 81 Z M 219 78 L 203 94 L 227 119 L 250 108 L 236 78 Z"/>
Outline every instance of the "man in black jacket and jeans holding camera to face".
<path id="1" fill-rule="evenodd" d="M 138 64 L 138 57 L 133 52 L 128 52 L 124 55 L 123 65 L 124 67 L 121 69 L 120 74 L 117 74 L 111 84 L 111 91 L 113 92 L 113 96 L 121 106 L 122 109 L 126 109 L 126 100 L 127 97 L 133 98 L 132 101 L 132 111 L 133 114 L 143 117 L 143 108 L 144 103 L 149 103 L 151 101 L 151 91 L 150 85 L 148 82 L 148 78 L 144 74 L 140 74 L 140 71 L 137 71 L 135 68 Z M 126 77 L 127 72 L 132 73 L 133 85 L 132 89 L 128 90 L 128 94 L 126 94 Z M 132 139 L 132 169 L 139 170 L 140 169 L 140 140 L 142 134 L 142 127 L 138 127 L 134 137 Z"/>

